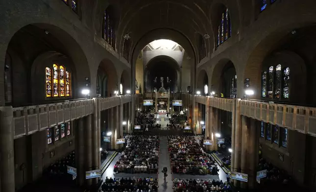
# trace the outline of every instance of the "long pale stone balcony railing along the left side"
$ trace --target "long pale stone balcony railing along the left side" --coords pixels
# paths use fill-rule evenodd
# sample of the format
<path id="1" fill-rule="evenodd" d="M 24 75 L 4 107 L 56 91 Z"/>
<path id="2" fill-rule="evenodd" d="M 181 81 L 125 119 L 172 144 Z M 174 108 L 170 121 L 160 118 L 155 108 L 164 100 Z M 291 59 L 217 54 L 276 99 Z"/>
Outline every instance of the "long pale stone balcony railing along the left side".
<path id="1" fill-rule="evenodd" d="M 101 102 L 101 110 L 132 101 L 132 96 L 113 96 L 97 98 Z M 14 138 L 30 135 L 63 122 L 76 120 L 94 112 L 94 100 L 83 99 L 43 105 L 13 108 Z"/>

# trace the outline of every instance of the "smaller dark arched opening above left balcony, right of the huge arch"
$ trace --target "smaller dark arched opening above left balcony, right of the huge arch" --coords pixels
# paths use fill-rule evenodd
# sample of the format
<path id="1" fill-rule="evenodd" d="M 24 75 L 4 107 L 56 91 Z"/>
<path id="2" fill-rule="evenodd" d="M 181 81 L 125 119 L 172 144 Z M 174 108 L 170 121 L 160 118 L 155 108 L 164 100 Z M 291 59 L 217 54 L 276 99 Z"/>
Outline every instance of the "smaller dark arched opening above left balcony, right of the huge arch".
<path id="1" fill-rule="evenodd" d="M 101 96 L 114 96 L 114 91 L 119 90 L 118 75 L 113 62 L 109 59 L 103 59 L 98 67 L 100 92 Z"/>

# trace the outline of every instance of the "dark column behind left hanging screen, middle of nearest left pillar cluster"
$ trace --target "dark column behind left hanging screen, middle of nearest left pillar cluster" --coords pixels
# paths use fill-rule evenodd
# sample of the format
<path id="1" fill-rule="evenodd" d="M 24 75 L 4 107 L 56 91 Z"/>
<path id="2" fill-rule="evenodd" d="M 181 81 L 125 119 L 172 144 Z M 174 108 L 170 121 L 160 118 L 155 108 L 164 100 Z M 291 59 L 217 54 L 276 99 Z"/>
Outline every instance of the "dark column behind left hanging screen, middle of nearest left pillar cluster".
<path id="1" fill-rule="evenodd" d="M 92 153 L 92 126 L 91 126 L 92 115 L 88 115 L 84 119 L 85 119 L 85 127 L 84 127 L 85 166 L 84 166 L 84 168 L 87 171 L 87 170 L 93 169 L 92 168 L 92 154 L 95 154 L 95 155 L 97 155 L 97 154 L 95 153 L 95 151 L 93 151 L 93 153 Z M 95 145 L 95 146 L 98 146 L 98 145 Z M 96 150 L 98 150 L 98 149 L 96 149 Z M 87 179 L 86 184 L 87 184 L 87 186 L 92 185 L 92 179 Z"/>

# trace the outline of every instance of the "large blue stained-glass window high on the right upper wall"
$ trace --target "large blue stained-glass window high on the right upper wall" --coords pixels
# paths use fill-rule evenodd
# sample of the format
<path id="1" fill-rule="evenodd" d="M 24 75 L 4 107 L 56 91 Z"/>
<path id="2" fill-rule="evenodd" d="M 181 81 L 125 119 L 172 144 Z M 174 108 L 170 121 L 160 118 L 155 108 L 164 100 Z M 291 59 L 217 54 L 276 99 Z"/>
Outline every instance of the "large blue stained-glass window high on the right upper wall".
<path id="1" fill-rule="evenodd" d="M 221 15 L 221 20 L 217 27 L 217 47 L 224 43 L 232 36 L 232 23 L 228 8 L 226 8 Z"/>

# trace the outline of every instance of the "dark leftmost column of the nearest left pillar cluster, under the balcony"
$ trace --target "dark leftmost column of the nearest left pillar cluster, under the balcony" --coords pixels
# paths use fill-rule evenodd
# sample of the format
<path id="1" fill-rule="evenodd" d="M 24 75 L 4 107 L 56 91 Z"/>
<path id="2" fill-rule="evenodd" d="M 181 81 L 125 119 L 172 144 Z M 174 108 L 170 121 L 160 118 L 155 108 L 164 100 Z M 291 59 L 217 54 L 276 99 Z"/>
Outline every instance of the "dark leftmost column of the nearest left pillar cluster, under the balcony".
<path id="1" fill-rule="evenodd" d="M 85 168 L 84 168 L 84 128 L 83 118 L 75 120 L 78 123 L 78 130 L 75 131 L 75 151 L 76 151 L 76 164 L 77 164 L 77 182 L 79 186 L 84 185 L 85 181 Z"/>

